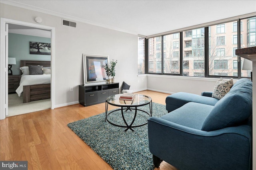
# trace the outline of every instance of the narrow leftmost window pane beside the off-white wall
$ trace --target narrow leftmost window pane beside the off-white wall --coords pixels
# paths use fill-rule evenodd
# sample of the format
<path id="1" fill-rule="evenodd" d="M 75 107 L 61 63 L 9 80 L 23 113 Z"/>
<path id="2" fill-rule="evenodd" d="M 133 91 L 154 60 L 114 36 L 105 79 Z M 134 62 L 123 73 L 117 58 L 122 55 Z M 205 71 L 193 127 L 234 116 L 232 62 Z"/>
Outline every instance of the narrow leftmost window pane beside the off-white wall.
<path id="1" fill-rule="evenodd" d="M 145 38 L 138 37 L 138 74 L 145 73 Z"/>

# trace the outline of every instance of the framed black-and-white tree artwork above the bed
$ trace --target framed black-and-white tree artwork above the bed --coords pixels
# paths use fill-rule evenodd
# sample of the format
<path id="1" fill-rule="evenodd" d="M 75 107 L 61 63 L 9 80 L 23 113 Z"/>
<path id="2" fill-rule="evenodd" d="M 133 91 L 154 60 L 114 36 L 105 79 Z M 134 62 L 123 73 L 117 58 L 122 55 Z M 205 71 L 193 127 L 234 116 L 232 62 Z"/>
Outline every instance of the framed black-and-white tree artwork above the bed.
<path id="1" fill-rule="evenodd" d="M 51 43 L 29 42 L 29 53 L 38 55 L 51 55 Z"/>

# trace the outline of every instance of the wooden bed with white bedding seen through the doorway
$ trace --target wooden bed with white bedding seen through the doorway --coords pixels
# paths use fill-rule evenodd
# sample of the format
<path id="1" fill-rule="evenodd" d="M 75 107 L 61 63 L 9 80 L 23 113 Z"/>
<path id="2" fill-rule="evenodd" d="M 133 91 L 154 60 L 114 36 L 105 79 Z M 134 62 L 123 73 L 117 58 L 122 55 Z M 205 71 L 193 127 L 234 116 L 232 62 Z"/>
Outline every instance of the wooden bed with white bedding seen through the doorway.
<path id="1" fill-rule="evenodd" d="M 23 66 L 43 66 L 50 67 L 50 61 L 28 61 L 21 60 L 20 67 Z M 18 96 L 23 92 L 23 103 L 35 100 L 49 99 L 51 96 L 51 74 L 26 75 L 20 72 L 20 86 L 16 89 Z"/>

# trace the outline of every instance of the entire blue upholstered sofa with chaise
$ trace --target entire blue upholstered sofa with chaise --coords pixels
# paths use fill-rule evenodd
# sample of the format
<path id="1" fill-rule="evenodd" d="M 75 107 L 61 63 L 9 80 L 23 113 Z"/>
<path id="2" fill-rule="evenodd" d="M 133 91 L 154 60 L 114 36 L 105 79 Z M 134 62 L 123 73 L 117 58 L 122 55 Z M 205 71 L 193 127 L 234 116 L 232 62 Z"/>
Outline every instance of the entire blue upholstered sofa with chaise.
<path id="1" fill-rule="evenodd" d="M 252 82 L 238 80 L 220 100 L 178 92 L 166 98 L 169 113 L 148 119 L 154 166 L 179 170 L 252 168 Z"/>

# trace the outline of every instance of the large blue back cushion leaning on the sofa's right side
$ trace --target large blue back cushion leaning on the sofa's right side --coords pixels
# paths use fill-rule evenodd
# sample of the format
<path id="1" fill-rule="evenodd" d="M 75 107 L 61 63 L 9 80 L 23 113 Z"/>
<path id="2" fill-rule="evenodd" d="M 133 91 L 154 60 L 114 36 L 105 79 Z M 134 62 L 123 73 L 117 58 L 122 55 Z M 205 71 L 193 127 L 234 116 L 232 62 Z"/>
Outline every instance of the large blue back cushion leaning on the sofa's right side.
<path id="1" fill-rule="evenodd" d="M 252 114 L 252 82 L 242 78 L 235 85 L 215 104 L 201 130 L 214 131 L 235 126 L 250 117 Z"/>

